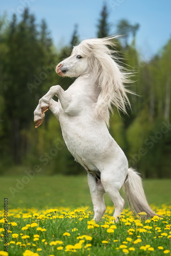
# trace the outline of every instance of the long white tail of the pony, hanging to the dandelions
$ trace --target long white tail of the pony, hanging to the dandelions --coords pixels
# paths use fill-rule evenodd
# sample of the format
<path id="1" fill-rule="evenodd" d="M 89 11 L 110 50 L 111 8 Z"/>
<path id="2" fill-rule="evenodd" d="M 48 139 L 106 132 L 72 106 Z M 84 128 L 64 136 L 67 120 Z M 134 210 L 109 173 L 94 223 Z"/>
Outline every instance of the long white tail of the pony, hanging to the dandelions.
<path id="1" fill-rule="evenodd" d="M 142 187 L 141 177 L 133 168 L 129 168 L 123 188 L 125 189 L 127 201 L 134 215 L 142 211 L 146 212 L 147 218 L 157 215 L 149 207 Z"/>

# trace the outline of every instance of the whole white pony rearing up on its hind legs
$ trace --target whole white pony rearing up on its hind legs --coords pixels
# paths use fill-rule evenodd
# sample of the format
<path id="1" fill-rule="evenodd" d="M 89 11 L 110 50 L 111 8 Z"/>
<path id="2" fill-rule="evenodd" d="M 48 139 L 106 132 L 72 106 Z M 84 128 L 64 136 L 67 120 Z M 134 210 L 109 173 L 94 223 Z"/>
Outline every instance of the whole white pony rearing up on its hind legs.
<path id="1" fill-rule="evenodd" d="M 129 168 L 126 156 L 109 133 L 111 104 L 126 113 L 126 96 L 129 90 L 123 83 L 128 74 L 113 57 L 114 37 L 83 40 L 73 48 L 70 57 L 56 67 L 60 76 L 77 77 L 64 91 L 53 86 L 39 100 L 34 111 L 35 127 L 43 119 L 44 112 L 52 111 L 59 120 L 63 139 L 75 160 L 88 172 L 88 183 L 94 205 L 94 219 L 100 221 L 105 204 L 103 194 L 108 193 L 115 205 L 114 217 L 118 220 L 125 201 L 119 190 L 124 185 L 131 210 L 156 215 L 149 207 L 141 178 Z M 58 97 L 58 102 L 53 96 Z"/>

